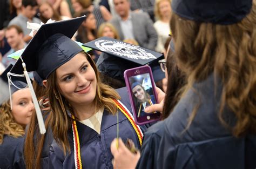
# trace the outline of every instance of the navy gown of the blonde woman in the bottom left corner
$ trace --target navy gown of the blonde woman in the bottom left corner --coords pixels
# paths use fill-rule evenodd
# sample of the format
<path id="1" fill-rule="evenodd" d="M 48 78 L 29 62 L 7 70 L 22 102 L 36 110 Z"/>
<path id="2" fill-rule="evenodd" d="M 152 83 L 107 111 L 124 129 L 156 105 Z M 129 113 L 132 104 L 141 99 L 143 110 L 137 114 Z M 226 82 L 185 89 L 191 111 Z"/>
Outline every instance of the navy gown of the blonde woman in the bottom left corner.
<path id="1" fill-rule="evenodd" d="M 14 138 L 4 135 L 3 143 L 0 145 L 0 168 L 25 168 L 23 159 L 24 138 Z"/>

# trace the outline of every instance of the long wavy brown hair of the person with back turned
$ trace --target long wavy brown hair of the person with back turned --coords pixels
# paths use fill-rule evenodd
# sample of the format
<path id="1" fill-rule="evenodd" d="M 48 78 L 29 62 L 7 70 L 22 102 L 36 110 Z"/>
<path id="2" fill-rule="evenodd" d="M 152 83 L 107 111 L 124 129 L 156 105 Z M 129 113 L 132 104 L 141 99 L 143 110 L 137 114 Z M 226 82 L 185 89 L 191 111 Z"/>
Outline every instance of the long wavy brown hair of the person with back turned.
<path id="1" fill-rule="evenodd" d="M 211 73 L 215 79 L 218 77 L 223 85 L 218 117 L 235 137 L 256 133 L 255 7 L 253 4 L 251 12 L 232 25 L 198 23 L 175 13 L 171 18 L 174 55 L 188 78 L 185 92 Z M 223 118 L 225 106 L 237 118 L 234 126 L 229 126 Z M 197 109 L 194 109 L 187 127 L 196 113 Z"/>

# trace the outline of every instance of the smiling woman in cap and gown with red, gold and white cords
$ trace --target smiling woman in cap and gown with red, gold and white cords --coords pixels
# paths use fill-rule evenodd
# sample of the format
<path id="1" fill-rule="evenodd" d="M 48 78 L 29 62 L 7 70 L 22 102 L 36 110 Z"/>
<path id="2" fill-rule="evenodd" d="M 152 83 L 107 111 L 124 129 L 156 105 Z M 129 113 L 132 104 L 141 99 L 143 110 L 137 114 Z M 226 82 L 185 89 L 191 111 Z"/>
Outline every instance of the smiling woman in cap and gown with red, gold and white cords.
<path id="1" fill-rule="evenodd" d="M 142 144 L 146 127 L 134 123 L 126 89 L 116 91 L 100 82 L 92 58 L 70 39 L 84 19 L 44 24 L 22 54 L 28 71 L 36 70 L 44 79 L 50 102 L 46 134 L 54 138 L 44 145 L 48 140 L 37 137 L 32 118 L 24 147 L 26 168 L 112 168 L 110 144 L 118 125 L 120 138 L 131 139 L 137 148 Z M 46 35 L 45 30 L 53 32 Z M 12 71 L 22 71 L 21 59 Z M 41 160 L 42 151 L 46 156 Z"/>

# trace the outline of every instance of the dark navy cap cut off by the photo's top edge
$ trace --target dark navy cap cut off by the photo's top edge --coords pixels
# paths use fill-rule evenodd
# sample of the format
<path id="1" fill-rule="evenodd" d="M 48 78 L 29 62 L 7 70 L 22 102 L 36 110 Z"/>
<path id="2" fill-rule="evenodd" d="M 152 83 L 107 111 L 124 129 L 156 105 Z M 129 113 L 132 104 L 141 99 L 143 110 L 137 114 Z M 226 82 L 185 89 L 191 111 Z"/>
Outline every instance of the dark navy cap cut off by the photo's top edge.
<path id="1" fill-rule="evenodd" d="M 233 24 L 241 21 L 252 8 L 252 0 L 172 0 L 172 11 L 197 22 Z"/>

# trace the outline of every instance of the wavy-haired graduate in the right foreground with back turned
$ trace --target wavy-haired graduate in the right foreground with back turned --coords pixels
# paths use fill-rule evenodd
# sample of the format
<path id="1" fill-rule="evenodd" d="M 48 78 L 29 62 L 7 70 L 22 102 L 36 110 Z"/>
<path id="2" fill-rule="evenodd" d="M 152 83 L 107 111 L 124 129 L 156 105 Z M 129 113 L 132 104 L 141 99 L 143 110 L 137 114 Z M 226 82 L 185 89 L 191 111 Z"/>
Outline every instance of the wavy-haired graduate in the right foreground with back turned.
<path id="1" fill-rule="evenodd" d="M 174 0 L 172 11 L 174 57 L 187 83 L 147 155 L 154 168 L 254 168 L 254 1 Z"/>

